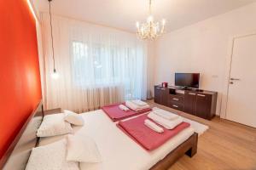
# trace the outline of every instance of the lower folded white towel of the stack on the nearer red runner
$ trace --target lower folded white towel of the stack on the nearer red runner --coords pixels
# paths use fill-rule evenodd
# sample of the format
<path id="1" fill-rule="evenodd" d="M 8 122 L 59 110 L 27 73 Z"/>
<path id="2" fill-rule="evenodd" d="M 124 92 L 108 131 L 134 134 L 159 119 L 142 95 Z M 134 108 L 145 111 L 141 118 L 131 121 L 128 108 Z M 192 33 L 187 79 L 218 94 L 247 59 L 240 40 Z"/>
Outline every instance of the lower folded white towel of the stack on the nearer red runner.
<path id="1" fill-rule="evenodd" d="M 167 129 L 172 129 L 174 127 L 177 127 L 177 125 L 183 122 L 183 118 L 181 116 L 178 116 L 177 119 L 173 121 L 169 121 L 161 116 L 154 114 L 154 112 L 150 112 L 148 114 L 148 117 L 152 119 L 154 122 L 157 122 L 158 124 L 160 124 L 161 126 L 166 127 Z"/>

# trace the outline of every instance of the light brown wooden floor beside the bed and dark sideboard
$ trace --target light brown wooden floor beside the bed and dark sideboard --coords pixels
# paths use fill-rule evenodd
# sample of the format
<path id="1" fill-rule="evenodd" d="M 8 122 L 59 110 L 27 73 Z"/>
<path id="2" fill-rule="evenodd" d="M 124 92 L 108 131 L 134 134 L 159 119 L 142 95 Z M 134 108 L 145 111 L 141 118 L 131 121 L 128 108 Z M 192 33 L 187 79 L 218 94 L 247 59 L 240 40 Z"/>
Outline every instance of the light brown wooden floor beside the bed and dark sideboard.
<path id="1" fill-rule="evenodd" d="M 256 170 L 256 128 L 219 117 L 207 121 L 148 102 L 210 127 L 199 137 L 197 154 L 183 156 L 169 170 Z"/>

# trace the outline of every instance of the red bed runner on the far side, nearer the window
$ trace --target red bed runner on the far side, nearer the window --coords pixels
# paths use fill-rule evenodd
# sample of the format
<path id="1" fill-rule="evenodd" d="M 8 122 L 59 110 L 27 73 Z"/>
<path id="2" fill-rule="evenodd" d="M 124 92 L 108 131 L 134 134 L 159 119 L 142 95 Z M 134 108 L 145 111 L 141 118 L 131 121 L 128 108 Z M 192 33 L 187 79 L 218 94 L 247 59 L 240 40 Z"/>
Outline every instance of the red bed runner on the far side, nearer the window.
<path id="1" fill-rule="evenodd" d="M 102 107 L 102 110 L 110 117 L 113 122 L 123 120 L 131 116 L 137 116 L 148 111 L 152 111 L 151 108 L 143 109 L 142 111 L 123 111 L 119 109 L 120 104 L 106 105 Z M 122 104 L 125 105 L 125 104 Z"/>

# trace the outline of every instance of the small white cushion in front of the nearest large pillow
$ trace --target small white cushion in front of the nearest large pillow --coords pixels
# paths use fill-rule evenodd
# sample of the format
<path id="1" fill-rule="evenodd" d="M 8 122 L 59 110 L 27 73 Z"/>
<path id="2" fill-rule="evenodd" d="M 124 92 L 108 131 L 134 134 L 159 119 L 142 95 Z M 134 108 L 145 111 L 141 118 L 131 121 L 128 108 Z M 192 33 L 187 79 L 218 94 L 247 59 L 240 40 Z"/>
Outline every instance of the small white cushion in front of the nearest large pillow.
<path id="1" fill-rule="evenodd" d="M 93 139 L 76 134 L 67 136 L 67 161 L 96 163 L 102 159 Z"/>

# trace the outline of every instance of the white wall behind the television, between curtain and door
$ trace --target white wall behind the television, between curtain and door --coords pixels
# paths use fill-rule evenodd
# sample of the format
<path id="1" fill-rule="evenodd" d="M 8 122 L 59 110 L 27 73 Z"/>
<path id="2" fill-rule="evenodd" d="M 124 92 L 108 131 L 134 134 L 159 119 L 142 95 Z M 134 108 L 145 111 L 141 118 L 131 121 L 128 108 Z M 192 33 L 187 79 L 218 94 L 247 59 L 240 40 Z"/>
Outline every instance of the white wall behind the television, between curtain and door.
<path id="1" fill-rule="evenodd" d="M 174 72 L 200 72 L 200 88 L 218 91 L 219 115 L 224 111 L 221 100 L 227 83 L 230 41 L 252 31 L 256 31 L 256 3 L 167 33 L 155 42 L 154 83 L 173 84 Z"/>

